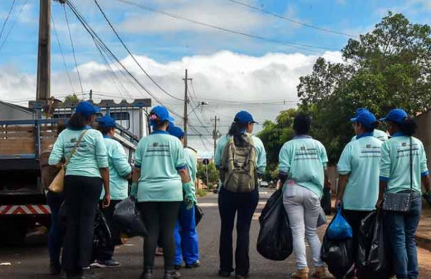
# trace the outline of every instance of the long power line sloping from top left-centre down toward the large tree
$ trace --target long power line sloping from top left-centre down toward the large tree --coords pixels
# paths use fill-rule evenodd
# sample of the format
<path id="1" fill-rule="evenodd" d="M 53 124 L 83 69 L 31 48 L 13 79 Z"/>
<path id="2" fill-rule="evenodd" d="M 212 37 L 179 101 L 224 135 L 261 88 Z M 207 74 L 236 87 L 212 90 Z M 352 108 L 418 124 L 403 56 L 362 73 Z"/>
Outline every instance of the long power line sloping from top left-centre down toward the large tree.
<path id="1" fill-rule="evenodd" d="M 161 11 L 161 10 L 157 10 L 155 8 L 150 8 L 148 6 L 144 6 L 142 4 L 139 4 L 139 3 L 136 3 L 136 2 L 133 2 L 133 1 L 128 1 L 128 0 L 117 0 L 117 1 L 123 2 L 125 4 L 129 4 L 129 5 L 132 5 L 132 6 L 136 6 L 137 8 L 142 8 L 145 11 L 151 11 L 151 12 L 154 12 L 154 13 L 160 13 L 162 15 L 170 16 L 171 18 L 176 18 L 178 20 L 187 21 L 189 23 L 194 23 L 196 25 L 201 25 L 201 26 L 205 26 L 205 27 L 211 27 L 213 29 L 217 29 L 217 30 L 220 30 L 220 31 L 229 32 L 229 33 L 232 33 L 232 34 L 235 34 L 235 35 L 241 35 L 241 36 L 250 37 L 250 38 L 253 38 L 253 39 L 260 39 L 262 41 L 273 42 L 275 44 L 282 44 L 282 45 L 285 45 L 285 46 L 291 46 L 291 47 L 295 47 L 296 49 L 303 49 L 303 50 L 306 50 L 306 51 L 313 51 L 313 49 L 324 49 L 324 50 L 330 50 L 330 51 L 336 51 L 337 50 L 337 49 L 330 49 L 330 48 L 325 47 L 325 46 L 312 46 L 312 45 L 309 45 L 309 44 L 296 44 L 294 42 L 286 42 L 286 41 L 282 41 L 280 39 L 270 39 L 270 38 L 259 36 L 259 35 L 251 35 L 251 34 L 248 34 L 248 33 L 242 32 L 242 31 L 227 29 L 225 27 L 220 27 L 220 26 L 213 25 L 213 24 L 210 24 L 210 23 L 203 23 L 201 21 L 193 20 L 193 19 L 190 19 L 190 18 L 185 18 L 183 16 L 178 16 L 178 15 L 176 15 L 174 13 L 168 13 L 166 11 Z"/>

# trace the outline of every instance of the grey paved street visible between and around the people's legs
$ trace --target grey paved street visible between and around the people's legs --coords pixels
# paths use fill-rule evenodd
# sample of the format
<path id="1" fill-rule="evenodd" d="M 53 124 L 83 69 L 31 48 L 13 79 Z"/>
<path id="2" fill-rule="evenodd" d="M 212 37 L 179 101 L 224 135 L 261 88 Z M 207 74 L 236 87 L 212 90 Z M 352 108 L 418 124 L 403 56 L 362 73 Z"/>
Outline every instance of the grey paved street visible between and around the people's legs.
<path id="1" fill-rule="evenodd" d="M 263 259 L 256 252 L 258 213 L 270 194 L 271 190 L 261 190 L 261 202 L 251 229 L 251 278 L 289 278 L 289 274 L 294 270 L 293 256 L 290 256 L 286 261 L 275 262 Z M 208 194 L 200 202 L 205 213 L 203 221 L 199 224 L 202 266 L 196 270 L 183 270 L 182 278 L 217 278 L 219 233 L 217 195 Z M 46 243 L 40 239 L 32 239 L 29 242 L 32 243 L 27 243 L 25 247 L 0 248 L 0 263 L 11 263 L 11 266 L 0 266 L 0 278 L 52 278 L 46 275 L 48 264 Z M 430 254 L 426 250 L 419 249 L 422 272 L 420 278 L 431 278 Z M 129 240 L 127 244 L 118 247 L 115 258 L 121 261 L 122 266 L 109 270 L 98 270 L 97 272 L 102 275 L 102 278 L 139 278 L 142 271 L 142 240 L 134 238 Z M 156 278 L 162 278 L 162 264 L 163 260 L 158 258 L 156 261 Z"/>

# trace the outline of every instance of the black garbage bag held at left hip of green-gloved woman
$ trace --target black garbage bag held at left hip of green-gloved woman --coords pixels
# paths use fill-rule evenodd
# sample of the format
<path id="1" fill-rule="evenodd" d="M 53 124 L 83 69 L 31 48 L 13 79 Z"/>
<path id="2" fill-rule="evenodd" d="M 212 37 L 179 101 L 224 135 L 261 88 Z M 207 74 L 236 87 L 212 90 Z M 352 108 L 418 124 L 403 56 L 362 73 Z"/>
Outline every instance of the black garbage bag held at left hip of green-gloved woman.
<path id="1" fill-rule="evenodd" d="M 147 235 L 135 197 L 128 197 L 115 205 L 113 219 L 118 229 L 130 237 Z"/>

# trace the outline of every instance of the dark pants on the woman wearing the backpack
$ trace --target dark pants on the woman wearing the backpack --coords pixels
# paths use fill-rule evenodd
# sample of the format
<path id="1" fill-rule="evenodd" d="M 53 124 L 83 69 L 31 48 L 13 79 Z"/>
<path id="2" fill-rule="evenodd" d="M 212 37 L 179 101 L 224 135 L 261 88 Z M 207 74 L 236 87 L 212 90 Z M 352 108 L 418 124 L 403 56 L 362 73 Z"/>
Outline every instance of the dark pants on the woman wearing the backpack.
<path id="1" fill-rule="evenodd" d="M 233 249 L 232 231 L 237 216 L 237 249 L 235 251 L 235 272 L 248 275 L 250 268 L 249 242 L 250 225 L 259 200 L 258 188 L 249 193 L 236 193 L 220 189 L 218 211 L 221 219 L 220 231 L 220 271 L 232 272 Z"/>

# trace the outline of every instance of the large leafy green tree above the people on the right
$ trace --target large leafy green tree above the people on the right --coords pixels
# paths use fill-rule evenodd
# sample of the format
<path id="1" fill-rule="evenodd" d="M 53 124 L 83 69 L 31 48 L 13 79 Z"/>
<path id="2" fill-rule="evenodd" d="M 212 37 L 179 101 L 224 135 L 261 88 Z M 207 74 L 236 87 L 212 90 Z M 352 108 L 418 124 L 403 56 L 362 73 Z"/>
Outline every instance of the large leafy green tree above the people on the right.
<path id="1" fill-rule="evenodd" d="M 358 107 L 377 117 L 402 107 L 414 115 L 431 106 L 431 27 L 391 12 L 375 29 L 342 49 L 344 63 L 318 58 L 300 78 L 300 109 L 313 117 L 313 135 L 335 163 L 352 137 L 349 118 Z"/>

